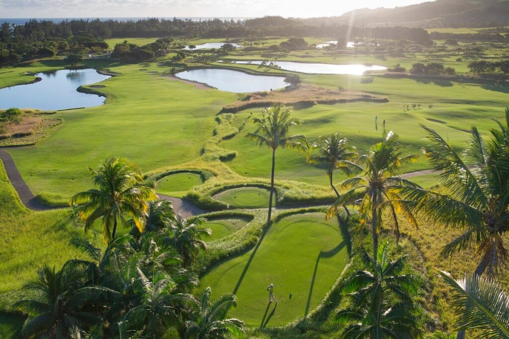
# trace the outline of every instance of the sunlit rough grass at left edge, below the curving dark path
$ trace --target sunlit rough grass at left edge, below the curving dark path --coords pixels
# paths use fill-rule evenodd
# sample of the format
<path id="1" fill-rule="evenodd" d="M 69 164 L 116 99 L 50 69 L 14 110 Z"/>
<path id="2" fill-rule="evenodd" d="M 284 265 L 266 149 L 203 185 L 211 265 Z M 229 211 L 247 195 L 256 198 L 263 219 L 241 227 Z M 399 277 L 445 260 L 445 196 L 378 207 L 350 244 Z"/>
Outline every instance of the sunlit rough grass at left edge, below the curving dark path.
<path id="1" fill-rule="evenodd" d="M 61 266 L 70 258 L 84 258 L 69 246 L 72 236 L 83 232 L 69 226 L 69 210 L 44 212 L 27 210 L 7 179 L 0 162 L 0 309 L 9 307 L 20 296 L 19 288 L 34 278 L 44 264 Z"/>

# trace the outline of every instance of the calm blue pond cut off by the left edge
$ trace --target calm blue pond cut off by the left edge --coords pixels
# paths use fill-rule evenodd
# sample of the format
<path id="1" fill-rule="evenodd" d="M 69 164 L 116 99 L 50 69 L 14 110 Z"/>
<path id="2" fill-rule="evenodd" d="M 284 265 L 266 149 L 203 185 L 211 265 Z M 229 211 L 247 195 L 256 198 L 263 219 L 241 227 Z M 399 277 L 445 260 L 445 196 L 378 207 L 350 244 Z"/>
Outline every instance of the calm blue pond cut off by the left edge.
<path id="1" fill-rule="evenodd" d="M 79 93 L 81 85 L 110 78 L 94 69 L 59 70 L 38 73 L 41 81 L 0 89 L 0 109 L 10 107 L 60 110 L 104 104 L 104 97 Z"/>

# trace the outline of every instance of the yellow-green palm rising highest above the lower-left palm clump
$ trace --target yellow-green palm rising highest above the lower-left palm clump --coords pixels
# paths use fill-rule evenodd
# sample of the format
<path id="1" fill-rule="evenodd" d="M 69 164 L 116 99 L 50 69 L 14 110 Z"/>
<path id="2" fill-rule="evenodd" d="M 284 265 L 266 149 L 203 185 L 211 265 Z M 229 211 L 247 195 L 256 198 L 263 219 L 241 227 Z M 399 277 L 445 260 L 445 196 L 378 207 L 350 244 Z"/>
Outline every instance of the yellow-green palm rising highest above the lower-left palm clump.
<path id="1" fill-rule="evenodd" d="M 96 220 L 101 220 L 104 242 L 115 238 L 117 221 L 127 226 L 125 215 L 143 231 L 148 204 L 155 199 L 154 190 L 145 186 L 138 169 L 119 158 L 108 158 L 98 171 L 90 169 L 97 189 L 74 195 L 69 204 L 78 205 L 78 212 L 89 230 Z"/>

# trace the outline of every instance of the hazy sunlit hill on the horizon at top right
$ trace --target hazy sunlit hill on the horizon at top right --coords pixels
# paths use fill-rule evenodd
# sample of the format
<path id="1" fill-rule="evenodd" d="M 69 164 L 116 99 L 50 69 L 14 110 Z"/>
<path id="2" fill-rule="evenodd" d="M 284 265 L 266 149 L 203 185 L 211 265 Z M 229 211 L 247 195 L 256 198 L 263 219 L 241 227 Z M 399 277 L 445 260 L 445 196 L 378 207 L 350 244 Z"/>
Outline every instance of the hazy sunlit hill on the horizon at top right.
<path id="1" fill-rule="evenodd" d="M 400 25 L 490 27 L 509 25 L 509 0 L 436 0 L 397 8 L 358 9 L 339 17 L 322 18 L 355 26 Z M 314 19 L 308 19 L 314 21 Z"/>

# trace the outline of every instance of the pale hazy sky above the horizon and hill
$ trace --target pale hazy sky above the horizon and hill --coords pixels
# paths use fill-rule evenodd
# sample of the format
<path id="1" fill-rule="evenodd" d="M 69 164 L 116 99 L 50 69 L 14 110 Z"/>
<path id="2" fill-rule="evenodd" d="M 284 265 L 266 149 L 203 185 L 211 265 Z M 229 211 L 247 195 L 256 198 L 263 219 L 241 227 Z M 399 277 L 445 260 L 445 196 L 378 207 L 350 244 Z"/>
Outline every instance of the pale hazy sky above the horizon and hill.
<path id="1" fill-rule="evenodd" d="M 3 18 L 335 16 L 425 0 L 0 0 Z"/>

